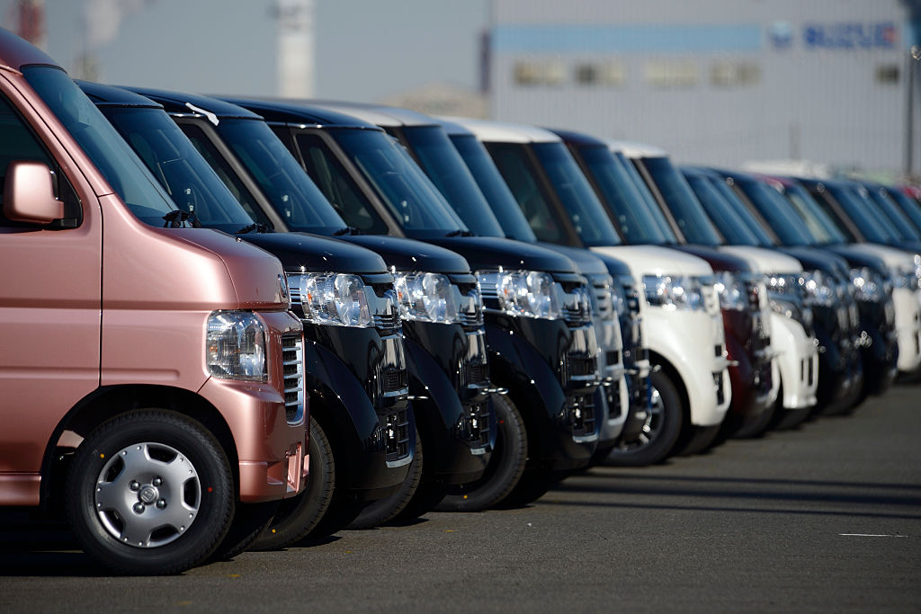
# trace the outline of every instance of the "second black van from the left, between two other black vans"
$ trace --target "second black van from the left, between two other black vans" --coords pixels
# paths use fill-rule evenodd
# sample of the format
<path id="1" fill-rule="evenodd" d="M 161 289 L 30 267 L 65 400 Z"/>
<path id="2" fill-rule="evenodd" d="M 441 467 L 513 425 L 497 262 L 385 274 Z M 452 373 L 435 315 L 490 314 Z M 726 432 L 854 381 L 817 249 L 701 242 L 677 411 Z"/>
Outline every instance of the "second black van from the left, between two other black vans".
<path id="1" fill-rule="evenodd" d="M 353 234 L 354 228 L 250 111 L 215 98 L 135 91 L 164 106 L 258 223 L 341 237 L 372 249 L 394 277 L 418 453 L 401 491 L 368 505 L 351 527 L 419 516 L 449 487 L 479 480 L 495 445 L 494 406 L 502 400 L 495 400 L 498 390 L 490 383 L 482 301 L 467 261 L 418 241 Z M 314 211 L 334 216 L 337 226 L 318 224 Z M 332 253 L 327 257 L 334 260 Z M 339 351 L 356 349 L 342 346 Z"/>

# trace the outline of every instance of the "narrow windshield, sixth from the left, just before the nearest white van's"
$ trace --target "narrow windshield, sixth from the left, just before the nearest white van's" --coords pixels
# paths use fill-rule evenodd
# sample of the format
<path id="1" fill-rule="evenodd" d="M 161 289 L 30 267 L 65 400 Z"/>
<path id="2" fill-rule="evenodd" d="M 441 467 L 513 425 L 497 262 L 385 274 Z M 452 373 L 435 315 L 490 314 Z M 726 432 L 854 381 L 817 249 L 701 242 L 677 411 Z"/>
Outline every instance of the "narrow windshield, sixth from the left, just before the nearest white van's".
<path id="1" fill-rule="evenodd" d="M 495 163 L 483 144 L 472 134 L 452 134 L 450 139 L 464 164 L 470 169 L 473 180 L 483 191 L 499 226 L 502 226 L 502 236 L 529 243 L 537 241 L 534 231 L 528 226 L 528 220 L 519 209 L 514 194 L 508 189 L 506 181 L 502 179 L 499 169 L 495 168 Z"/>

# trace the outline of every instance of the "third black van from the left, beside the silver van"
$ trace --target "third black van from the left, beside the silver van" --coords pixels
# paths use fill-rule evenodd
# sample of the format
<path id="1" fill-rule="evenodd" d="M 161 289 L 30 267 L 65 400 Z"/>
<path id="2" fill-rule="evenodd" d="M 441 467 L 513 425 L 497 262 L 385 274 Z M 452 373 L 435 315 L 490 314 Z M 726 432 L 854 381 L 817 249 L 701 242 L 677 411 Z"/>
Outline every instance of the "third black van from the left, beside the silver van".
<path id="1" fill-rule="evenodd" d="M 528 243 L 472 237 L 414 160 L 374 124 L 303 104 L 233 101 L 269 122 L 350 224 L 452 249 L 476 273 L 493 381 L 508 394 L 498 415 L 498 456 L 484 480 L 452 489 L 442 507 L 527 503 L 565 471 L 585 467 L 599 436 L 599 350 L 590 289 L 575 264 Z M 520 455 L 514 463 L 513 450 Z M 512 467 L 523 473 L 508 481 Z"/>

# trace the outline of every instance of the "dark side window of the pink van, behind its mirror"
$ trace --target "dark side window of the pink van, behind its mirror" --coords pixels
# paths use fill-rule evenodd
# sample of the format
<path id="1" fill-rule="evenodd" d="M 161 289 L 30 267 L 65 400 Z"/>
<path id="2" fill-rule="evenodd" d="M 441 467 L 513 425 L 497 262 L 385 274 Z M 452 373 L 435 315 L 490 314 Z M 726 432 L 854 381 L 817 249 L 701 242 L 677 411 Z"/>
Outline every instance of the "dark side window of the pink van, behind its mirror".
<path id="1" fill-rule="evenodd" d="M 70 182 L 64 178 L 52 156 L 41 145 L 38 137 L 32 133 L 13 105 L 4 97 L 0 97 L 0 135 L 2 135 L 0 136 L 0 206 L 3 205 L 6 169 L 9 163 L 18 160 L 42 162 L 52 170 L 54 195 L 64 201 L 64 215 L 74 219 L 70 224 L 58 226 L 76 226 L 76 218 L 80 214 L 80 203 L 76 192 Z M 0 226 L 23 225 L 7 220 L 0 212 Z"/>

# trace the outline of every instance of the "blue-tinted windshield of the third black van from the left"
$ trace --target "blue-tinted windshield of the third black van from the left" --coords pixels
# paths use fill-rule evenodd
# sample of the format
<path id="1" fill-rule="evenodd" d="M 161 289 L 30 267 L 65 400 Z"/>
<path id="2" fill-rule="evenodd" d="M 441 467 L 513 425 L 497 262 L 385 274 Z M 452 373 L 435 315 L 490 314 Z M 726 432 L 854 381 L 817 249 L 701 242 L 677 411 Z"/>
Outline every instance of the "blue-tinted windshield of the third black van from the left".
<path id="1" fill-rule="evenodd" d="M 331 134 L 408 236 L 444 237 L 467 230 L 441 192 L 391 136 L 377 130 L 334 130 Z"/>

